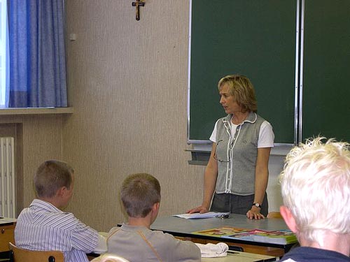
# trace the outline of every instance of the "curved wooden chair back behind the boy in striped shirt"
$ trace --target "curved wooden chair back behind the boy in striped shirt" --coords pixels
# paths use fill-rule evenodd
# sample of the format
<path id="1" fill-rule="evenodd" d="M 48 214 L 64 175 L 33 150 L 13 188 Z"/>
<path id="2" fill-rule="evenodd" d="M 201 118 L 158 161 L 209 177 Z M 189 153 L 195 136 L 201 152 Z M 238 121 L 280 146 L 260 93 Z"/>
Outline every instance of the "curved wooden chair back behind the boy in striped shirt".
<path id="1" fill-rule="evenodd" d="M 63 253 L 60 251 L 34 251 L 16 247 L 9 242 L 10 262 L 64 262 Z"/>

